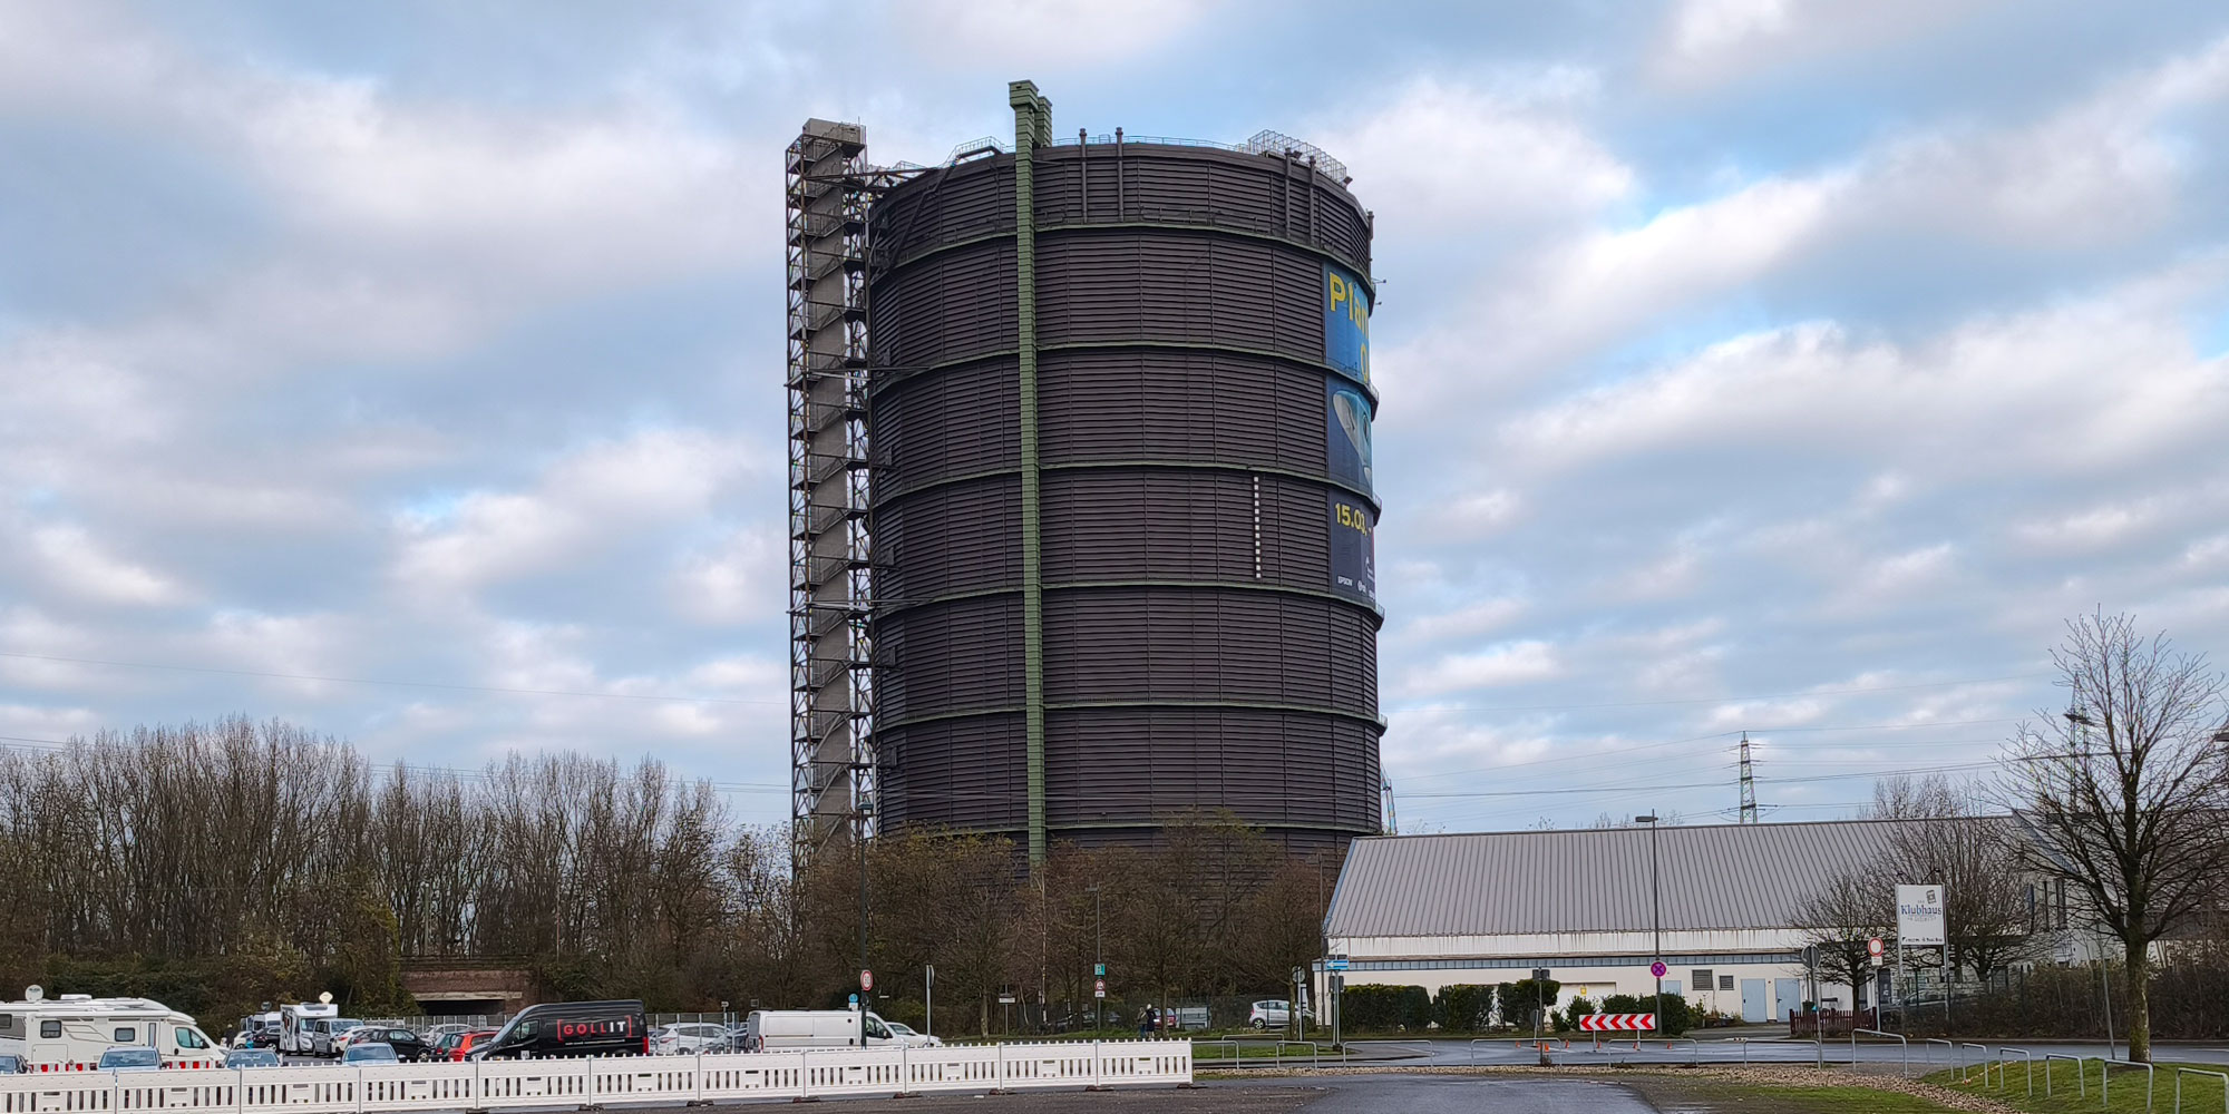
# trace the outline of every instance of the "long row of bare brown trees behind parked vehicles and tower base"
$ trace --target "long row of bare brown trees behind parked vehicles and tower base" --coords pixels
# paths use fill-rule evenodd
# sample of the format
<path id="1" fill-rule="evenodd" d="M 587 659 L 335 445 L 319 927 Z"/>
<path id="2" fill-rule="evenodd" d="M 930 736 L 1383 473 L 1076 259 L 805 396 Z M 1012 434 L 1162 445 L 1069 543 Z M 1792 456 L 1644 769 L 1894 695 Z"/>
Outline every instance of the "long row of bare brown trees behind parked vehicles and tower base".
<path id="1" fill-rule="evenodd" d="M 860 962 L 854 851 L 794 878 L 785 831 L 660 762 L 374 769 L 241 717 L 103 733 L 0 751 L 0 985 L 160 987 L 218 1018 L 332 989 L 383 1012 L 408 1009 L 408 962 L 499 960 L 655 1009 L 834 1005 Z M 936 965 L 938 1003 L 987 1027 L 1001 994 L 1088 1009 L 1101 958 L 1132 1000 L 1282 987 L 1317 954 L 1337 862 L 1188 818 L 1034 878 L 1005 840 L 936 833 L 874 840 L 865 869 L 867 962 L 901 998 Z"/>

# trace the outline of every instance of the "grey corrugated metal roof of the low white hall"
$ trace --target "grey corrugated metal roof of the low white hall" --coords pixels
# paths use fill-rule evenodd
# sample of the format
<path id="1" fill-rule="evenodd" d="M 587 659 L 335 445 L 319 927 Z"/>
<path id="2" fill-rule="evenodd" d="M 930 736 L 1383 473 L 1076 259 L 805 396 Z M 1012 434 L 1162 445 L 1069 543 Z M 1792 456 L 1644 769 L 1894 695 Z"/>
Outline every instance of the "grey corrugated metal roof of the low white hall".
<path id="1" fill-rule="evenodd" d="M 1881 853 L 1892 820 L 1658 831 L 1663 929 L 1794 922 L 1814 882 Z M 1491 831 L 1360 838 L 1326 934 L 1511 936 L 1649 929 L 1649 831 Z"/>

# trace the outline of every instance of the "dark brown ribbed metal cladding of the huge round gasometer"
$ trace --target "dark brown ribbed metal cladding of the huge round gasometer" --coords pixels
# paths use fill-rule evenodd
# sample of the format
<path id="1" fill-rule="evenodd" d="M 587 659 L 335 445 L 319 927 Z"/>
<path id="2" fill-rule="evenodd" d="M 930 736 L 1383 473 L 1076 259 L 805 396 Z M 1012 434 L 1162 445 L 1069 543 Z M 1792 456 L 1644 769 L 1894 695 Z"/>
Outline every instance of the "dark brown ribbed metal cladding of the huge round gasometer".
<path id="1" fill-rule="evenodd" d="M 883 831 L 1025 836 L 1014 189 L 983 156 L 874 207 Z M 1295 158 L 1157 143 L 1039 147 L 1030 189 L 1050 838 L 1380 831 L 1375 397 L 1326 303 L 1366 305 L 1369 216 Z"/>

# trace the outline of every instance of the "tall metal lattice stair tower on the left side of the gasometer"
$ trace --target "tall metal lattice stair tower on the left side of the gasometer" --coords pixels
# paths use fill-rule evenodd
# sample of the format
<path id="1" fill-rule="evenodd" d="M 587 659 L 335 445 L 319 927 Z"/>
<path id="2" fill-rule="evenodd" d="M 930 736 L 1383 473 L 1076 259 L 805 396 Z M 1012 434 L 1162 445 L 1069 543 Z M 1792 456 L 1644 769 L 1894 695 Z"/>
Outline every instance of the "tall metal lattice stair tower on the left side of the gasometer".
<path id="1" fill-rule="evenodd" d="M 785 165 L 794 864 L 874 833 L 865 154 L 858 125 L 807 120 Z"/>

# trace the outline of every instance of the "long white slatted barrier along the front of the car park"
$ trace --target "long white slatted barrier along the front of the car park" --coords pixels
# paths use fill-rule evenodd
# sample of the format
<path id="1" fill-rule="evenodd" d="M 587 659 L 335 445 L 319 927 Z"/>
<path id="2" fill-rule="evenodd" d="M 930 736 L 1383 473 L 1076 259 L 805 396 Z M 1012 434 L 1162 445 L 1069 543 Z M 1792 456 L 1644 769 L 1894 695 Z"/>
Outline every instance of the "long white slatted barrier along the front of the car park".
<path id="1" fill-rule="evenodd" d="M 0 1076 L 0 1114 L 388 1114 L 1190 1083 L 1190 1040 Z"/>

